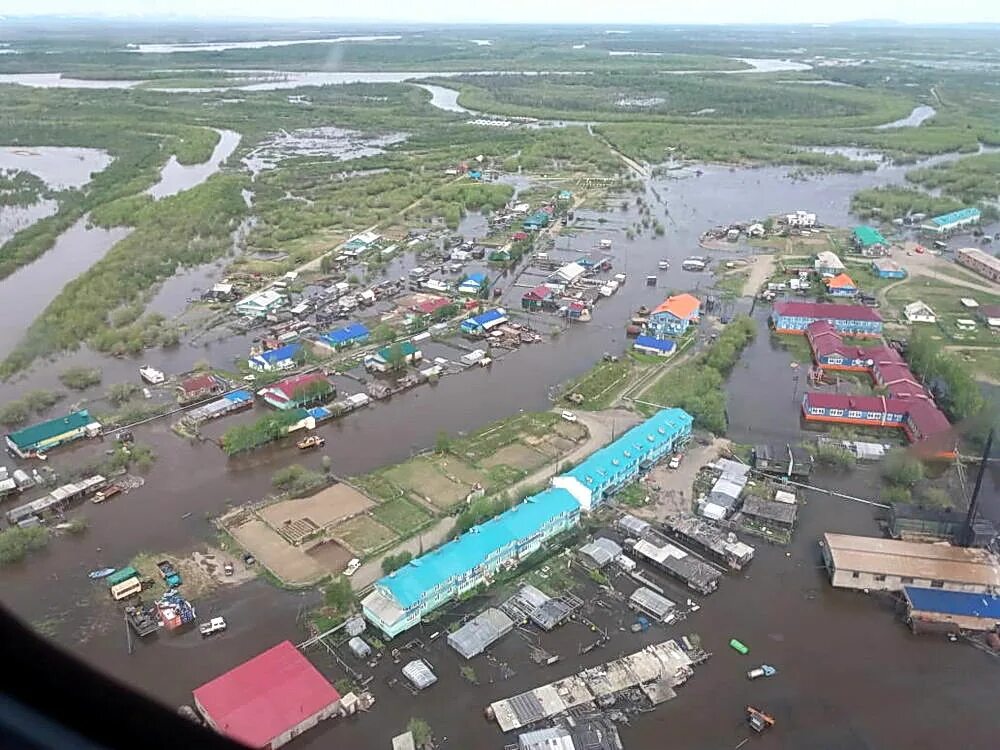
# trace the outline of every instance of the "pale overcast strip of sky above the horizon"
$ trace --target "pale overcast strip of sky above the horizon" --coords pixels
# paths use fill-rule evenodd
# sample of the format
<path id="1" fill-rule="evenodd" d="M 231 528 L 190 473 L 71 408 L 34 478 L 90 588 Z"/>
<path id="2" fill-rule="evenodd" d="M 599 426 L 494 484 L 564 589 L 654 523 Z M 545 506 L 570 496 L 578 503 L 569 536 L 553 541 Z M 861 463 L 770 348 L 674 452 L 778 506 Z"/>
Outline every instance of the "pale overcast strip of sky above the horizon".
<path id="1" fill-rule="evenodd" d="M 997 0 L 2 0 L 0 13 L 131 18 L 190 16 L 231 20 L 395 21 L 432 23 L 837 23 L 890 19 L 908 23 L 997 23 Z"/>

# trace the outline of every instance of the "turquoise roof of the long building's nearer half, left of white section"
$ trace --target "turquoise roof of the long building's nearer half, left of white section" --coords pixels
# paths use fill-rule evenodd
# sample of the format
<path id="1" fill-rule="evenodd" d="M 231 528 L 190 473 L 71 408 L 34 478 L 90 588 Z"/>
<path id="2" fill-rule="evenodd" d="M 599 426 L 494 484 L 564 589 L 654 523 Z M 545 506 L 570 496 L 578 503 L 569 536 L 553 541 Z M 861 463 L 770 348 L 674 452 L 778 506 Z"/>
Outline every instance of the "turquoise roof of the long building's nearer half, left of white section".
<path id="1" fill-rule="evenodd" d="M 560 515 L 579 511 L 573 496 L 552 488 L 529 497 L 505 513 L 474 526 L 451 542 L 412 560 L 378 581 L 404 608 L 435 587 L 472 571 L 497 550 L 527 539 Z"/>

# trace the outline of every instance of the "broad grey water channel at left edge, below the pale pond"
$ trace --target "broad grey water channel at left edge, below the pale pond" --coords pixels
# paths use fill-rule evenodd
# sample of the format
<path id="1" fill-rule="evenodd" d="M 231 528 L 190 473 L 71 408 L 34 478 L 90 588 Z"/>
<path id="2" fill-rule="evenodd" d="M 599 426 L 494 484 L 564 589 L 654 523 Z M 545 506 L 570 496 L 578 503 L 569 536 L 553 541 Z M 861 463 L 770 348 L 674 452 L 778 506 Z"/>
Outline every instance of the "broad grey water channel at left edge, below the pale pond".
<path id="1" fill-rule="evenodd" d="M 119 240 L 127 229 L 88 227 L 87 217 L 59 235 L 52 249 L 0 281 L 0 352 L 7 356 L 48 304 Z"/>

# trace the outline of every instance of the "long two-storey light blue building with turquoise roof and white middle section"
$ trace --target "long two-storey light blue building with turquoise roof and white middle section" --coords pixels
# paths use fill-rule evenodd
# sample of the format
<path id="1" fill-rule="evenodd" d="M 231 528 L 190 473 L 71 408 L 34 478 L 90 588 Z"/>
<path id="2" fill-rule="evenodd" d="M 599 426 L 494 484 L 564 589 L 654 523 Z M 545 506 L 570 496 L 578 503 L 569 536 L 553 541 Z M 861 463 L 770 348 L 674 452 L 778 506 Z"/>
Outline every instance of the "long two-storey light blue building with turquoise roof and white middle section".
<path id="1" fill-rule="evenodd" d="M 663 409 L 626 432 L 552 486 L 457 539 L 380 578 L 362 602 L 365 618 L 390 638 L 424 615 L 515 567 L 556 534 L 577 525 L 580 512 L 605 501 L 668 453 L 684 445 L 693 419 Z"/>

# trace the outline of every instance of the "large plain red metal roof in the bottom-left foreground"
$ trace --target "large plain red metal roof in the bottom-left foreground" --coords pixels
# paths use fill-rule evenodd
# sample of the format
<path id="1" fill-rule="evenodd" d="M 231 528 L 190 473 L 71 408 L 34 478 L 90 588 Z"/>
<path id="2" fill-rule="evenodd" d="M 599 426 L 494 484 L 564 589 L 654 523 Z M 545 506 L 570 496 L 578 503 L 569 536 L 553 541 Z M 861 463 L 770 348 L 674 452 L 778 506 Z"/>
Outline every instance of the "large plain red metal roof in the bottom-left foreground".
<path id="1" fill-rule="evenodd" d="M 339 701 L 340 693 L 284 641 L 196 688 L 194 697 L 220 732 L 261 748 Z"/>

